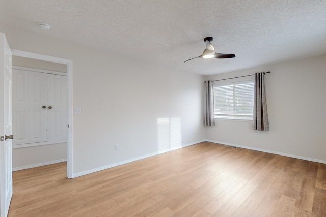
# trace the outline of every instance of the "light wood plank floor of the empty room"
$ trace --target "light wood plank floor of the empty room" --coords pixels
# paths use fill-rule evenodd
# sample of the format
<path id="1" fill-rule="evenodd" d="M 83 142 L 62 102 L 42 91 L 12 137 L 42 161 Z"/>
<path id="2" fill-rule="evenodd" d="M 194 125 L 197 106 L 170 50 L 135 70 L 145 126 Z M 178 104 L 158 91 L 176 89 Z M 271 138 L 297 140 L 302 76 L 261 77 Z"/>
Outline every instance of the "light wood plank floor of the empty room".
<path id="1" fill-rule="evenodd" d="M 326 165 L 203 142 L 67 179 L 13 173 L 9 216 L 326 216 Z"/>

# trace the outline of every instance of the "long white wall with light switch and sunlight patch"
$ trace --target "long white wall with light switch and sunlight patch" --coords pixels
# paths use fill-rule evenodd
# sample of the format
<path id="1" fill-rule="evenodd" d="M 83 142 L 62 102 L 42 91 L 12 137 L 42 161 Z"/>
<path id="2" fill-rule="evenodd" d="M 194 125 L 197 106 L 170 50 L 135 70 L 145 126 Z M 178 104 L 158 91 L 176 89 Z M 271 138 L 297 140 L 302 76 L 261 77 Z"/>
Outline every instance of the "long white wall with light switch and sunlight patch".
<path id="1" fill-rule="evenodd" d="M 73 107 L 83 109 L 73 116 L 74 176 L 204 140 L 202 76 L 5 24 L 0 30 L 12 49 L 73 60 Z"/>

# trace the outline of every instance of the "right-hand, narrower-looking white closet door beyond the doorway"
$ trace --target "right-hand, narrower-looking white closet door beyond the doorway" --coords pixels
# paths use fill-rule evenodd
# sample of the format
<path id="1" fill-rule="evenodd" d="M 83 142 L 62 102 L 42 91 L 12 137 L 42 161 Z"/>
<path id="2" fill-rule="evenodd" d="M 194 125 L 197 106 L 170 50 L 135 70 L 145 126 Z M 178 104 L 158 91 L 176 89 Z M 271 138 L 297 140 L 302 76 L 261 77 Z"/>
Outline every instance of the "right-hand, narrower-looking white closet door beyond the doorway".
<path id="1" fill-rule="evenodd" d="M 48 74 L 48 141 L 67 139 L 67 77 Z"/>

